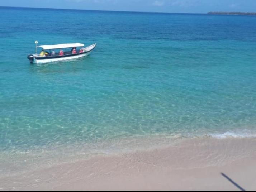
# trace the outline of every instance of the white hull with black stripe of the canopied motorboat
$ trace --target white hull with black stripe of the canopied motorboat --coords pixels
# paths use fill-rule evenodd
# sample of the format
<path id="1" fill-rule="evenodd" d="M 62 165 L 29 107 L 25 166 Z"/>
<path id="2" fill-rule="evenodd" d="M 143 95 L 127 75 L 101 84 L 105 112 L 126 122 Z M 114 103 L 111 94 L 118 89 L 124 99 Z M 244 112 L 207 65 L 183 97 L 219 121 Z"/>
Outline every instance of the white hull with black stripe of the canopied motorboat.
<path id="1" fill-rule="evenodd" d="M 76 59 L 80 57 L 85 57 L 91 54 L 93 49 L 96 47 L 96 43 L 93 45 L 90 45 L 89 47 L 84 48 L 84 53 L 76 53 L 76 54 L 68 54 L 64 56 L 50 56 L 50 57 L 34 57 L 33 55 L 29 55 L 28 59 L 30 63 L 49 63 L 49 62 L 56 62 L 56 61 L 64 61 L 64 60 L 70 60 L 70 59 Z"/>

